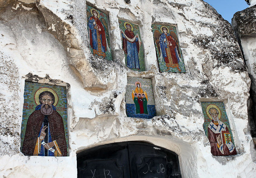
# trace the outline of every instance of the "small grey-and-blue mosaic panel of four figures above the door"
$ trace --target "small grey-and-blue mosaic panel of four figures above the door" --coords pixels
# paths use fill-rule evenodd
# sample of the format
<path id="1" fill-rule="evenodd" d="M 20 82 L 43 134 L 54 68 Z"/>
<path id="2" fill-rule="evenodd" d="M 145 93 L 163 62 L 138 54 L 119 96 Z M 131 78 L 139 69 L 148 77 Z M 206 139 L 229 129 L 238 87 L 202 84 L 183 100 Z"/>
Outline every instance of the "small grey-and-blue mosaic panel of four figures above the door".
<path id="1" fill-rule="evenodd" d="M 127 77 L 125 102 L 127 117 L 150 119 L 156 116 L 151 79 Z"/>

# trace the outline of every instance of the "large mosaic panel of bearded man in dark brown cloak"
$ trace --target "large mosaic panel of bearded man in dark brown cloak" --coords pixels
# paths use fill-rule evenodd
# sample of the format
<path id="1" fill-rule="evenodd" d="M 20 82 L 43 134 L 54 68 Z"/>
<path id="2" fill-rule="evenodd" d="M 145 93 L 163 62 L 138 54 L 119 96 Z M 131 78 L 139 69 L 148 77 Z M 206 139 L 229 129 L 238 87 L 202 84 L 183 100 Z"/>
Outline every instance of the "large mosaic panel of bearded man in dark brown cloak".
<path id="1" fill-rule="evenodd" d="M 68 156 L 66 87 L 25 82 L 21 152 Z"/>

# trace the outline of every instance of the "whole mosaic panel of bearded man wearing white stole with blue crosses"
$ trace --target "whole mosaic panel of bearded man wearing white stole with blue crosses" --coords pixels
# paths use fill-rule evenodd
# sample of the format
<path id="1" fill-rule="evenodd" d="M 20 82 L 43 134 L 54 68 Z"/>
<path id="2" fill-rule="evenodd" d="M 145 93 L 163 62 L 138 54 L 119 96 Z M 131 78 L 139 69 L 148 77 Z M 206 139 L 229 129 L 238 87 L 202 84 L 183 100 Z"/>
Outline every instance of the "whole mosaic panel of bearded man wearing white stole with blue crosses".
<path id="1" fill-rule="evenodd" d="M 223 102 L 201 102 L 205 135 L 214 156 L 236 155 L 234 140 Z"/>

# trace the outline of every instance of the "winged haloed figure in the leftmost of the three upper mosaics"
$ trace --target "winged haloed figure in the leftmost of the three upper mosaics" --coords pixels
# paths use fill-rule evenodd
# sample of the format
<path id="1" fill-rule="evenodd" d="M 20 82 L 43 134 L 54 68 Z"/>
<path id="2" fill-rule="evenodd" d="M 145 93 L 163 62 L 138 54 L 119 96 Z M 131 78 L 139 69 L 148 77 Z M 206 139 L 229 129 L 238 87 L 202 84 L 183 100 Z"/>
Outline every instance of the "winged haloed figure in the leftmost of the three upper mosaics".
<path id="1" fill-rule="evenodd" d="M 99 56 L 106 57 L 106 51 L 110 51 L 107 45 L 107 38 L 105 34 L 105 30 L 108 33 L 107 22 L 102 17 L 99 19 L 100 15 L 96 9 L 90 10 L 92 16 L 88 14 L 88 27 L 89 27 L 89 38 L 90 38 L 90 46 L 93 49 L 93 55 L 97 54 Z M 105 28 L 104 28 L 104 26 Z"/>

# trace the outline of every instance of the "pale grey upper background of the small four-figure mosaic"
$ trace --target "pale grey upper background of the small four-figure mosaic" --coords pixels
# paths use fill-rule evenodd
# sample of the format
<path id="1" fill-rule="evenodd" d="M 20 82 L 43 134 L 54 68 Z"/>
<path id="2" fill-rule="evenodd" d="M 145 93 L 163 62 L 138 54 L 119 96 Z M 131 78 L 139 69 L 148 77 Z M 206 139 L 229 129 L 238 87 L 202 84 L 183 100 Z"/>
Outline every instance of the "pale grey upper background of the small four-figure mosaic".
<path id="1" fill-rule="evenodd" d="M 132 89 L 135 90 L 137 86 L 135 86 L 135 82 L 141 82 L 141 89 L 144 91 L 146 89 L 146 93 L 148 95 L 148 105 L 155 105 L 154 94 L 152 88 L 151 79 L 145 79 L 140 77 L 127 77 L 127 85 L 125 92 L 125 102 L 128 104 L 134 104 L 132 100 Z M 132 85 L 129 85 L 132 84 Z M 149 87 L 144 87 L 142 85 L 148 85 Z"/>

